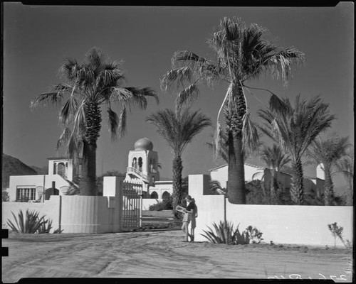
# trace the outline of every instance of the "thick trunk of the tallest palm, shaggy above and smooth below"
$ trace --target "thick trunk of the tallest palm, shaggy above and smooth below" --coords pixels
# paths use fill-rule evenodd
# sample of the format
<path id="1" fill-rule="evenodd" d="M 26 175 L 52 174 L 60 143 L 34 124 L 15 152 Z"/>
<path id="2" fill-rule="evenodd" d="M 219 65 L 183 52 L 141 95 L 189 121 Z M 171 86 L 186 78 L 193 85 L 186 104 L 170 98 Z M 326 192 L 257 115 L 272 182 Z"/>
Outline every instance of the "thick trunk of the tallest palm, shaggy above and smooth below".
<path id="1" fill-rule="evenodd" d="M 229 143 L 227 192 L 230 203 L 246 204 L 244 147 L 242 143 L 246 103 L 241 84 L 234 84 L 232 92 L 233 97 L 231 102 L 227 102 L 225 111 Z"/>

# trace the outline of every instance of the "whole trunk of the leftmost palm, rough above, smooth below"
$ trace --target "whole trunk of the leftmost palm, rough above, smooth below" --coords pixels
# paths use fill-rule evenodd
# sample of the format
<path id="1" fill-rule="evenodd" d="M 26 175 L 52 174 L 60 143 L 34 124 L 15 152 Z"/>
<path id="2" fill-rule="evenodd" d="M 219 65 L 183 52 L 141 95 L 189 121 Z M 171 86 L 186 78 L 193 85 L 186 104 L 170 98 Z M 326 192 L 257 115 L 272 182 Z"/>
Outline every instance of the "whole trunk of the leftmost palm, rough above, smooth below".
<path id="1" fill-rule="evenodd" d="M 82 173 L 79 183 L 80 195 L 95 196 L 96 188 L 96 141 L 100 135 L 101 112 L 95 102 L 85 102 L 86 129 L 83 136 Z"/>

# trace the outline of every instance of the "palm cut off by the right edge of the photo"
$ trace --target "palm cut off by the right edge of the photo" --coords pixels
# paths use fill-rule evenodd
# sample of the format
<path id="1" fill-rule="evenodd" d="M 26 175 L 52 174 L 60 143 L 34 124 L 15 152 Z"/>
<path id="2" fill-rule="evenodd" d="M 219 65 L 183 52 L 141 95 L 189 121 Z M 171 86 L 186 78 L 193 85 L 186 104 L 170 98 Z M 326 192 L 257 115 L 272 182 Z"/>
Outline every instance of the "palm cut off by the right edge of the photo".
<path id="1" fill-rule="evenodd" d="M 340 160 L 337 161 L 336 167 L 339 173 L 342 173 L 347 182 L 347 202 L 348 206 L 353 204 L 353 188 L 354 188 L 354 163 L 355 155 L 351 148 L 347 151 L 346 155 L 342 156 Z"/>

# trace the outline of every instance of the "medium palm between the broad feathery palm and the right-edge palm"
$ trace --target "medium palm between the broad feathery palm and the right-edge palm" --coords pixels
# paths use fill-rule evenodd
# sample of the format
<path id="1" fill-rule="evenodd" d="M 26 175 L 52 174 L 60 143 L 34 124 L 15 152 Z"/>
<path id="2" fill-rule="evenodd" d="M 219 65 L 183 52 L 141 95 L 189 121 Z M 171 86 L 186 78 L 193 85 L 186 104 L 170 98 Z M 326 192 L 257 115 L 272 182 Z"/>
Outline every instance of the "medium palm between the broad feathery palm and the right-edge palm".
<path id="1" fill-rule="evenodd" d="M 326 206 L 331 205 L 334 195 L 333 168 L 335 168 L 337 160 L 346 154 L 347 148 L 349 147 L 350 143 L 348 143 L 348 137 L 340 138 L 334 136 L 325 140 L 319 137 L 310 144 L 307 151 L 308 156 L 313 158 L 315 163 L 323 164 L 322 167 L 325 173 L 324 204 Z"/>

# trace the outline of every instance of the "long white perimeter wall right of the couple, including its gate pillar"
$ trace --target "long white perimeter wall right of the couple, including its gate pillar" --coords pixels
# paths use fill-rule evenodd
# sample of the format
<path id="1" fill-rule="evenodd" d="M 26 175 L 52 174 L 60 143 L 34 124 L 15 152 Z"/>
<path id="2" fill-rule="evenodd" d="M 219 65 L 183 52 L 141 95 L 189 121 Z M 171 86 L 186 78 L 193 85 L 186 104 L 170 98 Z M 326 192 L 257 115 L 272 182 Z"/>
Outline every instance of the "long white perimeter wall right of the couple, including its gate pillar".
<path id="1" fill-rule="evenodd" d="M 198 207 L 195 241 L 206 241 L 201 236 L 206 225 L 224 221 L 224 196 L 203 195 L 209 192 L 209 175 L 189 175 L 189 195 Z M 305 244 L 334 246 L 328 224 L 342 226 L 345 239 L 352 241 L 353 208 L 336 206 L 249 205 L 231 204 L 226 199 L 226 220 L 240 224 L 240 231 L 256 226 L 263 232 L 263 242 L 275 244 Z M 343 246 L 337 240 L 337 246 Z"/>

